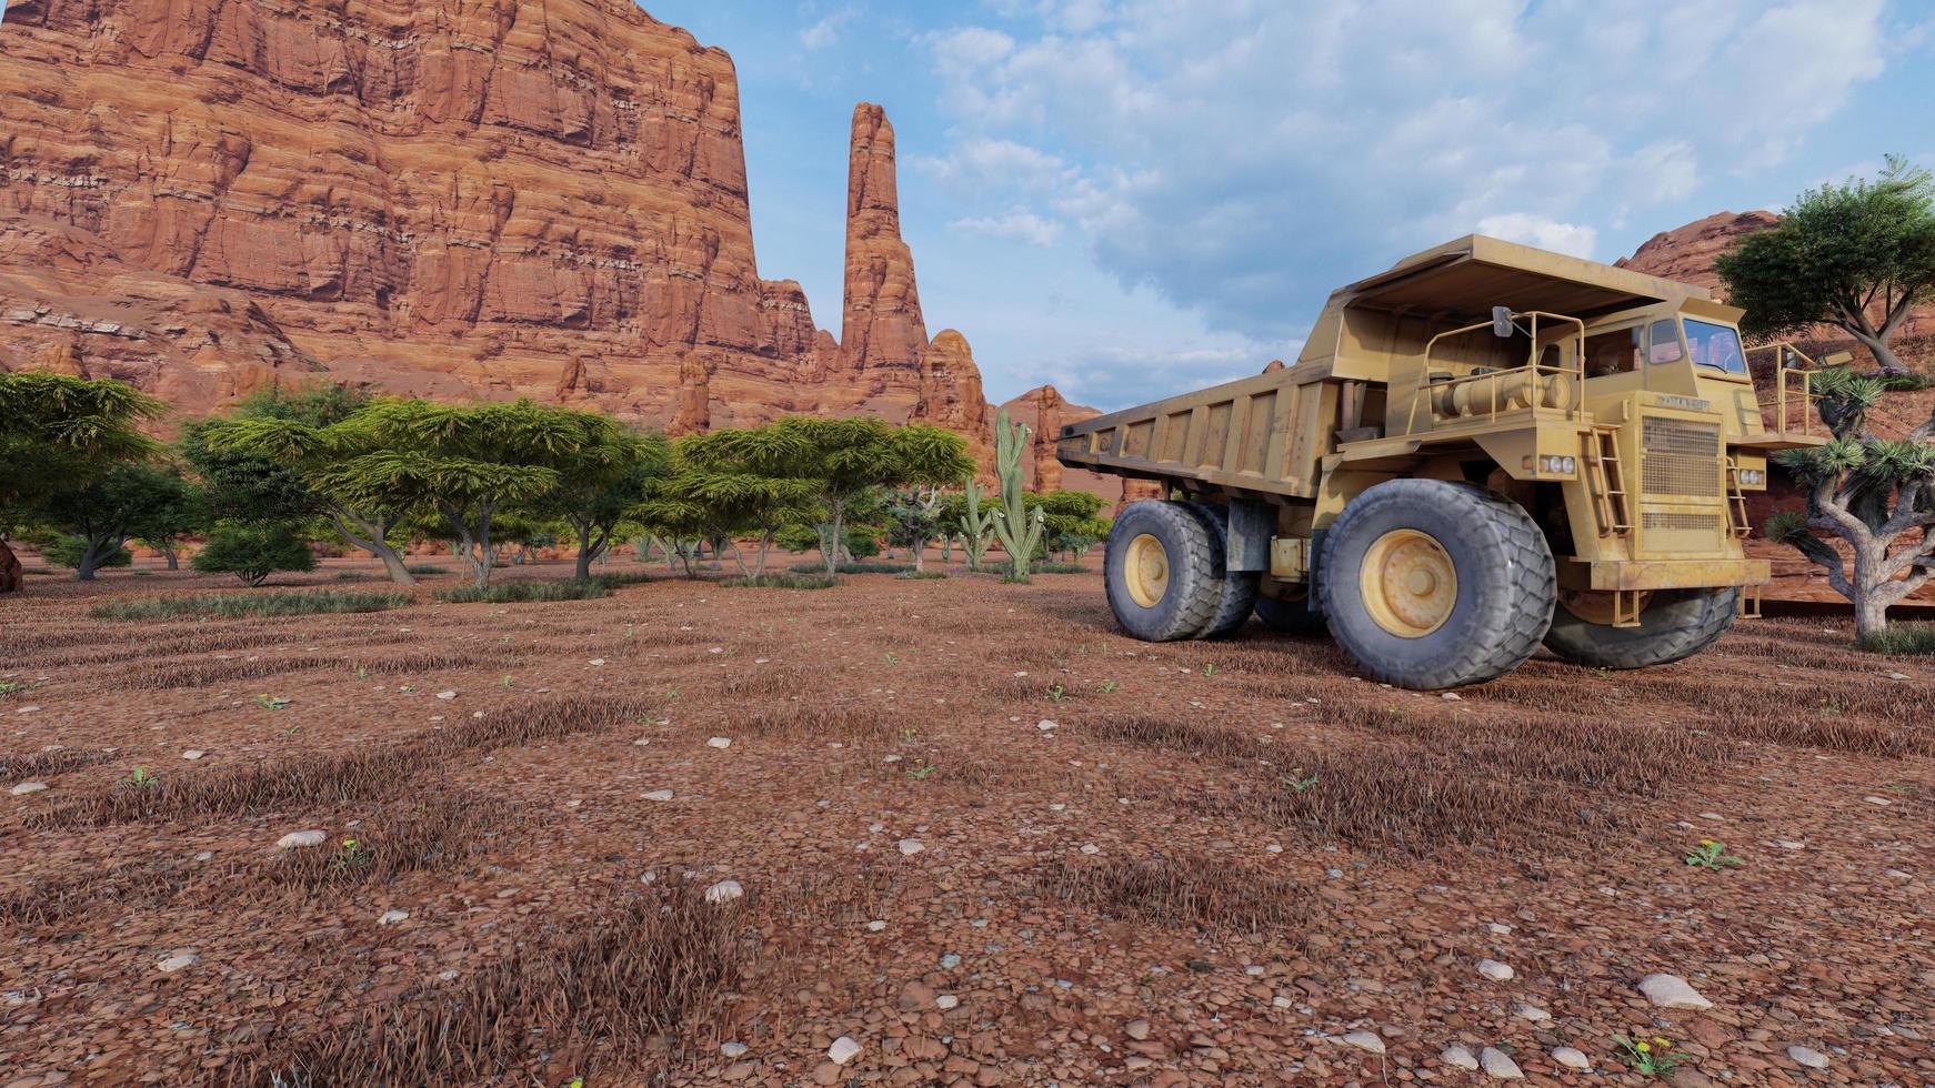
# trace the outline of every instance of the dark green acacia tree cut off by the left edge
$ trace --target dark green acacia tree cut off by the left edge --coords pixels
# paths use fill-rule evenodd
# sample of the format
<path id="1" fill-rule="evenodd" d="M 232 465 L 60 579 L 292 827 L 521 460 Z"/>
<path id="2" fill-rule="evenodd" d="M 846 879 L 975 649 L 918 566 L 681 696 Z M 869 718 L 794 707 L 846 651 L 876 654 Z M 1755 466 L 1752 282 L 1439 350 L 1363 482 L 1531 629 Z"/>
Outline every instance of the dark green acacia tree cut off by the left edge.
<path id="1" fill-rule="evenodd" d="M 147 460 L 157 443 L 139 425 L 161 412 L 159 400 L 122 381 L 0 373 L 0 514 L 46 514 L 43 502 Z M 118 549 L 120 541 L 95 560 Z M 0 593 L 19 587 L 19 558 L 0 539 Z"/>

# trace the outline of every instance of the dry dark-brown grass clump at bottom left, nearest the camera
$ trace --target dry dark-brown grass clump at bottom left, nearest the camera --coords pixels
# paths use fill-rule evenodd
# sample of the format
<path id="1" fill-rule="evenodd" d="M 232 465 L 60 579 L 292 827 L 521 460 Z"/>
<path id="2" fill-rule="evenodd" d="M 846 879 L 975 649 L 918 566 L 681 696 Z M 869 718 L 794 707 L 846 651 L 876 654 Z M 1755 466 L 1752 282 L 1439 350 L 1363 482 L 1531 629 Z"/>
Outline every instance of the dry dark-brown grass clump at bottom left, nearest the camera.
<path id="1" fill-rule="evenodd" d="M 350 1024 L 288 1038 L 255 1084 L 546 1084 L 551 1071 L 660 1069 L 747 962 L 743 906 L 695 891 L 635 897 L 536 933 L 457 986 L 418 986 Z M 644 1076 L 640 1073 L 640 1080 Z"/>

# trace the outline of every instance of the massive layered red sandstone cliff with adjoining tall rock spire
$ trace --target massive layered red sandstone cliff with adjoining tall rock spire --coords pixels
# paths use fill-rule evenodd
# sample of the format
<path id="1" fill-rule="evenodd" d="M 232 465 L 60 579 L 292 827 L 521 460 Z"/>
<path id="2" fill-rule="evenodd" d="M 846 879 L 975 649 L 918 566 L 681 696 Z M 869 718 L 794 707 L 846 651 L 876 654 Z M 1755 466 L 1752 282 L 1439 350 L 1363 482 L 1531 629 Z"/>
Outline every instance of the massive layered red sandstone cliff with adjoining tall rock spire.
<path id="1" fill-rule="evenodd" d="M 884 114 L 842 346 L 759 274 L 731 58 L 633 0 L 14 0 L 0 99 L 6 367 L 77 336 L 190 412 L 288 375 L 681 427 L 923 396 Z"/>

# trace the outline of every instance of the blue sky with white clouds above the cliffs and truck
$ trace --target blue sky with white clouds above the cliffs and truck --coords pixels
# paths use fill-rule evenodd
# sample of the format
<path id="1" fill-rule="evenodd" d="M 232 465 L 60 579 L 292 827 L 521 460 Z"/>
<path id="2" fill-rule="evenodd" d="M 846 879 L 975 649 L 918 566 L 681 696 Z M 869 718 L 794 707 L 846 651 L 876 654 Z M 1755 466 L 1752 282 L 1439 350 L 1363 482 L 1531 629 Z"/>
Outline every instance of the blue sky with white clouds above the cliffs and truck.
<path id="1" fill-rule="evenodd" d="M 991 400 L 1295 359 L 1324 296 L 1478 230 L 1612 261 L 1935 164 L 1929 0 L 648 0 L 739 70 L 759 269 L 840 330 L 882 102 L 929 332 Z"/>

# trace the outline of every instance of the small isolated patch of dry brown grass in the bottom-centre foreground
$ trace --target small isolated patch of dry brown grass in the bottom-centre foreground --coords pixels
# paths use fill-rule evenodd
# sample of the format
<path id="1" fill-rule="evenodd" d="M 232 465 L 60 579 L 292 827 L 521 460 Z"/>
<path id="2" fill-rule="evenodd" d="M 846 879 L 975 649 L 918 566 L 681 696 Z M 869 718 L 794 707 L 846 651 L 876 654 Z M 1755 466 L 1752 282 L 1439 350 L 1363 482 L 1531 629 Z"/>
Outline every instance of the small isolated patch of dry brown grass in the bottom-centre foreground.
<path id="1" fill-rule="evenodd" d="M 1207 856 L 1058 860 L 1037 877 L 1037 887 L 1115 922 L 1267 931 L 1291 945 L 1314 914 L 1308 883 Z"/>

